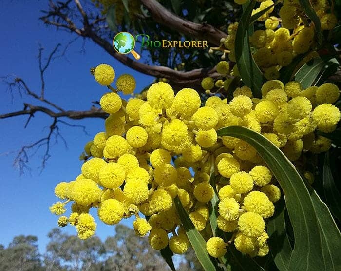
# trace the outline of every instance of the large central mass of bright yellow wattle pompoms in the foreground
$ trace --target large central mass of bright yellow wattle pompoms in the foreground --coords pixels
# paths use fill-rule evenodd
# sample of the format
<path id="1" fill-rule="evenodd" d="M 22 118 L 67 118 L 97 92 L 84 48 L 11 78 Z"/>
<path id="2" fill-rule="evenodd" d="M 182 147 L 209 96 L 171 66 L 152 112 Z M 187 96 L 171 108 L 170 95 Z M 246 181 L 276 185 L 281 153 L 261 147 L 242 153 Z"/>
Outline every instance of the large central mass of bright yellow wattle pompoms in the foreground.
<path id="1" fill-rule="evenodd" d="M 219 69 L 228 72 L 226 63 Z M 326 151 L 330 141 L 315 131 L 331 132 L 340 120 L 339 109 L 332 105 L 339 89 L 328 83 L 303 90 L 297 82 L 283 85 L 273 80 L 263 85 L 262 99 L 253 98 L 244 86 L 237 88 L 231 101 L 212 96 L 202 104 L 194 89 L 184 88 L 175 95 L 164 82 L 152 84 L 145 99 L 124 101 L 117 92 L 133 93 L 132 76 L 121 75 L 114 89 L 109 86 L 114 81 L 112 67 L 101 64 L 93 74 L 112 90 L 100 100 L 109 117 L 104 131 L 85 145 L 80 175 L 57 184 L 56 196 L 66 201 L 50 207 L 52 213 L 62 215 L 65 205 L 73 202 L 71 214 L 59 217 L 58 225 L 70 223 L 82 239 L 95 233 L 89 210 L 96 208 L 99 220 L 108 225 L 135 216 L 136 234 L 149 234 L 152 248 L 169 245 L 182 254 L 190 244 L 173 204 L 177 196 L 207 240 L 208 253 L 221 257 L 228 240 L 212 237 L 209 230 L 215 190 L 209 179 L 214 169 L 220 200 L 218 227 L 234 232 L 237 250 L 265 256 L 269 251 L 265 222 L 273 215 L 281 190 L 252 146 L 233 137 L 219 138 L 216 131 L 245 126 L 296 161 L 305 151 Z"/>

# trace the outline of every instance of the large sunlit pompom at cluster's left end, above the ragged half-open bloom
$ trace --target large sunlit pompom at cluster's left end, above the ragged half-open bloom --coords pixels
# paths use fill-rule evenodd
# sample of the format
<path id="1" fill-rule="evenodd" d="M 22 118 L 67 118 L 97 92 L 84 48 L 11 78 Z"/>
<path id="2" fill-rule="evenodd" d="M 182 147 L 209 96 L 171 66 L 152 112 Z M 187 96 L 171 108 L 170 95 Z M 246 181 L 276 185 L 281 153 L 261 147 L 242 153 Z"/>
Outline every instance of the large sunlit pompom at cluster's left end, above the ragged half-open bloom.
<path id="1" fill-rule="evenodd" d="M 71 198 L 79 205 L 87 206 L 99 200 L 101 188 L 90 179 L 76 181 L 73 185 Z"/>

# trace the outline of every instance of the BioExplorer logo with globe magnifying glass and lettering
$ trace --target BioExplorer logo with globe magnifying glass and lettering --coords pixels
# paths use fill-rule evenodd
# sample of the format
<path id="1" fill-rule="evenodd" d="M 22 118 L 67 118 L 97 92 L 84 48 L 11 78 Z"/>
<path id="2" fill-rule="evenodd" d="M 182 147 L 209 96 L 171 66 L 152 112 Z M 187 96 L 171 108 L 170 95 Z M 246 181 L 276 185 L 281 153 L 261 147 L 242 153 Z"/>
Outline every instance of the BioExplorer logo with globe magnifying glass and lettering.
<path id="1" fill-rule="evenodd" d="M 208 48 L 207 41 L 169 41 L 156 40 L 152 41 L 147 34 L 136 35 L 135 38 L 128 32 L 119 32 L 113 40 L 113 46 L 117 53 L 129 54 L 132 53 L 135 59 L 139 60 L 141 56 L 134 51 L 135 41 L 141 41 L 142 47 L 149 48 Z"/>

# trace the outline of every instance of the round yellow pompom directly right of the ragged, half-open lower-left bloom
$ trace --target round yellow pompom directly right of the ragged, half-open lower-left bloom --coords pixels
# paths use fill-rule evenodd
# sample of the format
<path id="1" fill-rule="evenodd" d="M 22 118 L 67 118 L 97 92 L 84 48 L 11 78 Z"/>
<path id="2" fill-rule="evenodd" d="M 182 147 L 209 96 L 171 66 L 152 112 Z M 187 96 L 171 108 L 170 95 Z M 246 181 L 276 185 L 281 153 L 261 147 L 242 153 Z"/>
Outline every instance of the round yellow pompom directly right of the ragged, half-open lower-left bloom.
<path id="1" fill-rule="evenodd" d="M 121 221 L 124 214 L 124 206 L 118 200 L 107 199 L 98 208 L 98 218 L 108 225 L 114 225 Z"/>

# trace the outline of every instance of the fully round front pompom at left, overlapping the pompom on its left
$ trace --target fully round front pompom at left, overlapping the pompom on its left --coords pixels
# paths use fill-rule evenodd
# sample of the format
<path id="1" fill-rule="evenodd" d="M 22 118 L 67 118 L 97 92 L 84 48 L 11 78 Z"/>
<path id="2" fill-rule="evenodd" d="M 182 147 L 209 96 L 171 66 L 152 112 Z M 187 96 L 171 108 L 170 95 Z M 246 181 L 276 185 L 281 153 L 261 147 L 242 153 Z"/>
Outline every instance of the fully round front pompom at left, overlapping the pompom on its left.
<path id="1" fill-rule="evenodd" d="M 117 163 L 107 163 L 99 171 L 99 181 L 106 188 L 117 188 L 123 184 L 126 177 L 124 167 Z"/>

